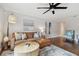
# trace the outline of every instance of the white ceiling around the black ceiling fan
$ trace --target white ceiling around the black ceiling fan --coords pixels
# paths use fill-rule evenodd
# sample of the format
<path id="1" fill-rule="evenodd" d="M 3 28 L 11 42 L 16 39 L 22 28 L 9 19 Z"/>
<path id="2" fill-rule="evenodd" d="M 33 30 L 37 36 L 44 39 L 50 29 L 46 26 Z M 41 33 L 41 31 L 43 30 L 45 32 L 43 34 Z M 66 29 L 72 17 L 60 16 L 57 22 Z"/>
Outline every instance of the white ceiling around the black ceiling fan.
<path id="1" fill-rule="evenodd" d="M 52 10 L 46 14 L 42 14 L 46 9 L 37 9 L 37 7 L 47 7 L 48 3 L 1 3 L 1 7 L 8 11 L 13 11 L 23 15 L 29 15 L 41 19 L 61 19 L 65 17 L 78 16 L 79 4 L 78 3 L 62 3 L 59 6 L 67 6 L 67 9 L 55 10 L 55 15 L 52 14 Z"/>

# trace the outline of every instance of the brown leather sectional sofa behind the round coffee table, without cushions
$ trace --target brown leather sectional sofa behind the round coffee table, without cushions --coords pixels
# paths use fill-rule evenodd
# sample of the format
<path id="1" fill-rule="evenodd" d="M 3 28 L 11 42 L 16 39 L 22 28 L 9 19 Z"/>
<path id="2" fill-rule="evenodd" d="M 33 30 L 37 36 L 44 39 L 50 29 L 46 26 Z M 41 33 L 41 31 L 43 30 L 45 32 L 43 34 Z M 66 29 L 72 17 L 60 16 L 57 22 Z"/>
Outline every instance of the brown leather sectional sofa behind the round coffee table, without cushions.
<path id="1" fill-rule="evenodd" d="M 26 33 L 27 34 L 27 33 Z M 14 47 L 19 44 L 19 43 L 22 43 L 22 42 L 27 42 L 27 41 L 36 41 L 39 43 L 40 45 L 40 48 L 43 48 L 43 47 L 46 47 L 46 46 L 49 46 L 52 44 L 52 41 L 50 39 L 46 39 L 46 38 L 39 38 L 39 39 L 34 39 L 34 33 L 29 33 L 28 35 L 29 37 L 27 39 L 24 39 L 24 40 L 16 40 L 15 38 L 15 33 L 12 34 L 12 38 L 11 38 L 11 50 L 14 50 Z"/>

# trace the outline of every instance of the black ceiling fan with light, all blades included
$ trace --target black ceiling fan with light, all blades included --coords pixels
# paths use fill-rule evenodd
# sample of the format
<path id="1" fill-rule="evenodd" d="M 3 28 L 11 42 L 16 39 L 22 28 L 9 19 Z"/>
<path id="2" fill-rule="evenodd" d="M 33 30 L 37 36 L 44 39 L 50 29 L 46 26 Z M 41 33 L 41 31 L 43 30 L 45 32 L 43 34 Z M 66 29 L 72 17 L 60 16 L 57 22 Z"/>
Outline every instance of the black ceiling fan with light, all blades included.
<path id="1" fill-rule="evenodd" d="M 58 7 L 61 3 L 49 3 L 49 7 L 37 7 L 37 9 L 48 9 L 43 14 L 47 13 L 51 9 L 53 9 L 52 13 L 55 14 L 55 9 L 67 9 L 67 7 Z"/>

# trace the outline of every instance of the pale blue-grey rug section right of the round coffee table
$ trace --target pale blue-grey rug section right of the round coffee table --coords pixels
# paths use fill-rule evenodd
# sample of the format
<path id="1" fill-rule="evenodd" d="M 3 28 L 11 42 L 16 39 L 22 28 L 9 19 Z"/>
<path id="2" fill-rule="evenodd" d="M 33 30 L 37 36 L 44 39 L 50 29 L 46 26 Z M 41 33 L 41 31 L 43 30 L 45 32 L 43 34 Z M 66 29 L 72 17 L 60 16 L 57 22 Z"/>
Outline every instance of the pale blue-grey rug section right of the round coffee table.
<path id="1" fill-rule="evenodd" d="M 41 49 L 41 56 L 77 56 L 69 51 L 59 48 L 55 45 L 51 45 Z"/>

